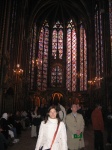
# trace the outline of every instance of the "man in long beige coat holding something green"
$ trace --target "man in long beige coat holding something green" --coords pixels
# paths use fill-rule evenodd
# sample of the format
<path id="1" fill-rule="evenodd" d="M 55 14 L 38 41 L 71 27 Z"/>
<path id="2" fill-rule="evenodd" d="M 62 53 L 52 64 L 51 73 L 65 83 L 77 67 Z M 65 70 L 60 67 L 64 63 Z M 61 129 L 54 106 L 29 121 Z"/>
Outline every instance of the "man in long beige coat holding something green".
<path id="1" fill-rule="evenodd" d="M 69 150 L 81 150 L 84 148 L 84 119 L 77 113 L 77 104 L 72 104 L 72 112 L 66 116 L 67 143 Z"/>

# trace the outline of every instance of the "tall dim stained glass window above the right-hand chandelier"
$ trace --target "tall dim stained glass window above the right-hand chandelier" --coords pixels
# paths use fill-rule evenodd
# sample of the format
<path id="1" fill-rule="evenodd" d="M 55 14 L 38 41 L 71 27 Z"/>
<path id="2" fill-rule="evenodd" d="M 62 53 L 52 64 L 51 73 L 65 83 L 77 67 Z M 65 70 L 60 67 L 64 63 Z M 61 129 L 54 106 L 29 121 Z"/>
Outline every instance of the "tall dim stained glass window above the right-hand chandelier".
<path id="1" fill-rule="evenodd" d="M 104 55 L 103 55 L 103 34 L 102 34 L 102 14 L 96 5 L 95 14 L 95 51 L 96 51 L 96 79 L 100 79 L 104 71 Z M 100 87 L 100 80 L 97 80 L 97 88 Z"/>

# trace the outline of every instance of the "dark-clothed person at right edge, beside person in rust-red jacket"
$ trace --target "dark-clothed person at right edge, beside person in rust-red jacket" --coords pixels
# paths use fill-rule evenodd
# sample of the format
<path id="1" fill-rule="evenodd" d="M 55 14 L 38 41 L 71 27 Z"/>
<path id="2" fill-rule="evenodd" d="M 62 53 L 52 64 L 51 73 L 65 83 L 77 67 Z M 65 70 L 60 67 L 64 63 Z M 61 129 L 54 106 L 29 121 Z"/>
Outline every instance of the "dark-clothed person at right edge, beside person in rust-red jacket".
<path id="1" fill-rule="evenodd" d="M 107 130 L 107 143 L 106 146 L 112 145 L 112 107 L 109 106 L 106 113 L 106 130 Z"/>

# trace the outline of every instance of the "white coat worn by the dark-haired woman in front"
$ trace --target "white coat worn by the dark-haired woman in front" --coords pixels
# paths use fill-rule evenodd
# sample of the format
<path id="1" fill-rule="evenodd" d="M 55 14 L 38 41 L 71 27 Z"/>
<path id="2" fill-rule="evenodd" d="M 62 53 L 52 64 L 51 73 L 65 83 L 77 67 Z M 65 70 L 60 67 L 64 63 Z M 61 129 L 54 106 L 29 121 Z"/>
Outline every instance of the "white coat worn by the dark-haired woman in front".
<path id="1" fill-rule="evenodd" d="M 43 150 L 50 148 L 54 133 L 57 129 L 57 119 L 48 118 L 47 123 L 41 122 L 38 140 L 35 150 L 43 146 Z M 63 122 L 60 122 L 59 129 L 52 146 L 52 150 L 67 150 L 66 128 Z"/>

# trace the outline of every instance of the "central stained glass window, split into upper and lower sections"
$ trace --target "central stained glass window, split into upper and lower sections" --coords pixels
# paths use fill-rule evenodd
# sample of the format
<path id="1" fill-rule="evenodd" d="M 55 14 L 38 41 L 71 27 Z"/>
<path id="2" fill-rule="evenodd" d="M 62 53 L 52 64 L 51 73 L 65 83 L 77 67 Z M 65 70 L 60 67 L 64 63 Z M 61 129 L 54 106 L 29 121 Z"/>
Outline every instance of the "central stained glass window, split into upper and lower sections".
<path id="1" fill-rule="evenodd" d="M 52 33 L 52 57 L 54 59 L 63 58 L 63 26 L 59 21 L 53 26 Z M 51 69 L 51 86 L 62 86 L 62 67 L 55 65 Z"/>

